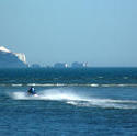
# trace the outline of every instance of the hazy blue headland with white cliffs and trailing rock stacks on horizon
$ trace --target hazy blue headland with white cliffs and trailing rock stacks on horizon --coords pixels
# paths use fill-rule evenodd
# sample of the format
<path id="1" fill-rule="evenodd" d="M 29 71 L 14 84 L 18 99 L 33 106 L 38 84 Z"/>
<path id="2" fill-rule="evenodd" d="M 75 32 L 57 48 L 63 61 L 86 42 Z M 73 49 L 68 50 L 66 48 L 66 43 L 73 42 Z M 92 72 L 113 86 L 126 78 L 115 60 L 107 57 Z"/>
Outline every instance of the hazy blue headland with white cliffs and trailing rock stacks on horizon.
<path id="1" fill-rule="evenodd" d="M 0 46 L 0 68 L 42 68 L 39 64 L 28 65 L 24 53 L 13 53 Z M 45 66 L 46 68 L 87 68 L 88 63 L 75 61 L 69 66 L 67 63 L 55 63 L 54 66 Z"/>

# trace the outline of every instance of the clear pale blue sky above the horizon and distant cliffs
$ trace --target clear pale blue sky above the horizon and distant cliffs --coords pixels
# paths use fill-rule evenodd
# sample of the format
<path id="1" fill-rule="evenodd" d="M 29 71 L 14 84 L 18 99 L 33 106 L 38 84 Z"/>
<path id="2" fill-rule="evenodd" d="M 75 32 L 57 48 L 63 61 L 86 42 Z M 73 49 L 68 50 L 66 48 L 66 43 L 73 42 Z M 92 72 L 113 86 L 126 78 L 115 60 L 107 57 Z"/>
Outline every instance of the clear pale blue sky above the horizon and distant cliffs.
<path id="1" fill-rule="evenodd" d="M 28 64 L 137 67 L 137 0 L 0 0 L 0 45 Z"/>

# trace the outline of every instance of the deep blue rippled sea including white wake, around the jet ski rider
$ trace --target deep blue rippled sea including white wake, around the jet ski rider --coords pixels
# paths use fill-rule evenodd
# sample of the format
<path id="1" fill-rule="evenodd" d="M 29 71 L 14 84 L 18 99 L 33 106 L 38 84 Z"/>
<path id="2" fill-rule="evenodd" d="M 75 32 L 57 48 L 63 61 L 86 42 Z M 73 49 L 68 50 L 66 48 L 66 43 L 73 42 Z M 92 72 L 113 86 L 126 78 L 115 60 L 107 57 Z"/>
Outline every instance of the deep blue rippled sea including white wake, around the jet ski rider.
<path id="1" fill-rule="evenodd" d="M 0 136 L 137 136 L 137 68 L 0 69 Z"/>

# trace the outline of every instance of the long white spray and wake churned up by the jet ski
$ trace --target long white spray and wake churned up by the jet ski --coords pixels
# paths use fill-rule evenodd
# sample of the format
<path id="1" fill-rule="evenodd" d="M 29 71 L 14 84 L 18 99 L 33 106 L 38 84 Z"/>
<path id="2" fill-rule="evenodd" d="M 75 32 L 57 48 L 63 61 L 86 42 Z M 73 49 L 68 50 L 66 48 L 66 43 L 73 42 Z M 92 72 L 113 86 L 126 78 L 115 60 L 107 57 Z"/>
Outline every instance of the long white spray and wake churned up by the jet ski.
<path id="1" fill-rule="evenodd" d="M 137 109 L 137 101 L 88 98 L 72 90 L 48 89 L 41 91 L 37 97 L 28 97 L 26 92 L 13 92 L 14 100 L 49 100 L 62 101 L 75 106 L 103 107 L 103 109 Z"/>

